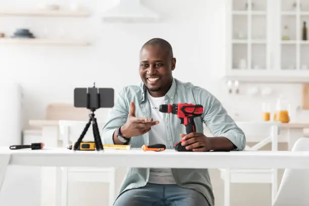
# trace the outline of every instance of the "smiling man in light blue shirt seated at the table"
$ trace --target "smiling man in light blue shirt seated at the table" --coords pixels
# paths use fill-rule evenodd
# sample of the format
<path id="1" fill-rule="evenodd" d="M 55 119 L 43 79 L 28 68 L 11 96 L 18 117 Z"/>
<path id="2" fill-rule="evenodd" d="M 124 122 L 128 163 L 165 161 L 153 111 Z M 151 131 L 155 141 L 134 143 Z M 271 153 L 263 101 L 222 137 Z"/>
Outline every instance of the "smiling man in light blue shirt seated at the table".
<path id="1" fill-rule="evenodd" d="M 173 149 L 180 139 L 192 152 L 242 150 L 245 136 L 207 90 L 173 78 L 176 66 L 172 46 L 161 38 L 147 41 L 139 54 L 142 82 L 126 86 L 117 95 L 115 106 L 103 128 L 105 144 L 163 143 Z M 161 104 L 200 104 L 201 117 L 194 119 L 196 132 L 186 135 L 176 115 L 161 113 Z M 203 123 L 214 137 L 203 135 Z M 151 160 L 150 160 L 151 161 Z M 186 164 L 186 163 L 183 163 Z M 117 197 L 116 206 L 214 205 L 207 169 L 130 168 Z"/>

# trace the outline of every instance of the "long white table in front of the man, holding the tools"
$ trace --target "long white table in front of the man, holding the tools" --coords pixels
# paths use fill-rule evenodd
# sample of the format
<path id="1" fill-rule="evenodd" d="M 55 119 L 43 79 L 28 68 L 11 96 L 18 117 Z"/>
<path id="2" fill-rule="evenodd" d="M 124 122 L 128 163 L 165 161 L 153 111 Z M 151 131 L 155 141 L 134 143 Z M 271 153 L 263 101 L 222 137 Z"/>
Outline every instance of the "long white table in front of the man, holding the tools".
<path id="1" fill-rule="evenodd" d="M 151 161 L 149 161 L 151 160 Z M 180 161 L 181 160 L 181 161 Z M 254 160 L 254 161 L 253 161 Z M 181 164 L 185 163 L 185 164 Z M 0 147 L 0 189 L 9 165 L 42 167 L 290 168 L 309 169 L 309 151 L 162 152 L 141 149 L 73 151 Z"/>

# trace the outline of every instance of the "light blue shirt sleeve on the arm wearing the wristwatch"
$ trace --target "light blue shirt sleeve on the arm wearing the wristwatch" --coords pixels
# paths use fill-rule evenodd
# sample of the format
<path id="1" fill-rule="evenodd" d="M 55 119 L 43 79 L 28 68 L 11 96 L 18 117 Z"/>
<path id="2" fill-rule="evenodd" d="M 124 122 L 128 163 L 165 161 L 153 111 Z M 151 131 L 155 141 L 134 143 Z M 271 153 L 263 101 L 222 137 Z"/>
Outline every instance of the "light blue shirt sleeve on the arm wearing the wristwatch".
<path id="1" fill-rule="evenodd" d="M 114 107 L 110 111 L 108 119 L 101 132 L 101 139 L 104 144 L 114 144 L 114 132 L 126 123 L 128 114 L 129 110 L 125 101 L 125 93 L 124 90 L 121 90 L 116 95 Z"/>

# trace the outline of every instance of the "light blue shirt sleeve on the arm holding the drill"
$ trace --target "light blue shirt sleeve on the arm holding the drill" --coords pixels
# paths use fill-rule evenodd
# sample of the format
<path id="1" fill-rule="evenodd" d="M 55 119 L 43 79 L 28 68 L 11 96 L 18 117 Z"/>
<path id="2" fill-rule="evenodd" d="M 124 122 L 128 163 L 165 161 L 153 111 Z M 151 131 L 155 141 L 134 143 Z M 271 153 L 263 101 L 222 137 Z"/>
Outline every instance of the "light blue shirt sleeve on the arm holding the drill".
<path id="1" fill-rule="evenodd" d="M 229 139 L 236 146 L 234 150 L 243 150 L 246 145 L 245 134 L 227 114 L 221 102 L 208 91 L 201 91 L 199 96 L 204 107 L 202 119 L 209 131 L 214 136 Z"/>

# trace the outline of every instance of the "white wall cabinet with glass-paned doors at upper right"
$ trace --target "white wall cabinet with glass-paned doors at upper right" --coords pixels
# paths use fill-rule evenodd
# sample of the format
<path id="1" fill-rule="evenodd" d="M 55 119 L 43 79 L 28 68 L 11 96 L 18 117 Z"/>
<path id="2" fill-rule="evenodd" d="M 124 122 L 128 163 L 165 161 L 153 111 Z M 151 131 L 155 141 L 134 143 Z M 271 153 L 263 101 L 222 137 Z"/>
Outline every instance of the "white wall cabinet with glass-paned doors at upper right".
<path id="1" fill-rule="evenodd" d="M 239 81 L 308 82 L 304 21 L 309 37 L 309 0 L 226 1 L 224 76 Z"/>

